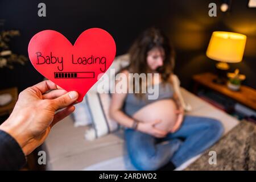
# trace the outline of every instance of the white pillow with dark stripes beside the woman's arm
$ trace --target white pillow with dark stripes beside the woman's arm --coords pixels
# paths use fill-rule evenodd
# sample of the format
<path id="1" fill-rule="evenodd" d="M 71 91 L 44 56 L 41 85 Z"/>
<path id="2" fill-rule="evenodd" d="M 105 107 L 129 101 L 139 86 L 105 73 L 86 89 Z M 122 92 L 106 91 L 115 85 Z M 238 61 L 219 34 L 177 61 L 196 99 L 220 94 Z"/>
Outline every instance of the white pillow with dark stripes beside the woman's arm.
<path id="1" fill-rule="evenodd" d="M 85 139 L 93 140 L 119 129 L 118 123 L 109 117 L 111 100 L 109 90 L 113 89 L 110 88 L 110 82 L 115 80 L 115 74 L 112 75 L 110 69 L 114 69 L 115 73 L 117 73 L 121 68 L 126 67 L 128 64 L 129 55 L 126 54 L 115 57 L 115 60 L 108 71 L 106 71 L 100 80 L 98 80 L 86 94 L 85 100 L 90 111 L 90 118 L 92 118 L 92 127 L 85 131 Z M 98 84 L 108 85 L 106 87 L 104 86 L 104 93 L 98 93 Z"/>

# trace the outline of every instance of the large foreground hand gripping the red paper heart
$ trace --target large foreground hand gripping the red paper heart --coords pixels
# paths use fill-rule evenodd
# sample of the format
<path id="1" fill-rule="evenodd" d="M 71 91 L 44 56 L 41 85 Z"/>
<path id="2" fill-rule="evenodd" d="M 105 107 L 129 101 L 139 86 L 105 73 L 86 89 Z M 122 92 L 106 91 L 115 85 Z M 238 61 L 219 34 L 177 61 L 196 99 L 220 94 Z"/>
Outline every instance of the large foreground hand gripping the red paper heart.
<path id="1" fill-rule="evenodd" d="M 40 146 L 52 127 L 75 110 L 78 94 L 61 89 L 50 80 L 23 90 L 10 117 L 0 130 L 18 142 L 24 155 Z M 65 108 L 65 109 L 63 109 Z M 56 112 L 59 109 L 59 112 Z"/>

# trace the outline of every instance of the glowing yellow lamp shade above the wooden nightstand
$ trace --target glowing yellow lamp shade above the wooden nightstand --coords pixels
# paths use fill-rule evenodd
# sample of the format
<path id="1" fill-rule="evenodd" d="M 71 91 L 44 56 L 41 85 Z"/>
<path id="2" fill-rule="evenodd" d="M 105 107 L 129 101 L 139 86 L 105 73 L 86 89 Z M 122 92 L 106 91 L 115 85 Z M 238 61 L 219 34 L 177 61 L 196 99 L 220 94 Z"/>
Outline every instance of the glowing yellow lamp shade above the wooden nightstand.
<path id="1" fill-rule="evenodd" d="M 207 48 L 210 59 L 226 63 L 242 61 L 245 50 L 246 36 L 233 32 L 213 32 Z"/>

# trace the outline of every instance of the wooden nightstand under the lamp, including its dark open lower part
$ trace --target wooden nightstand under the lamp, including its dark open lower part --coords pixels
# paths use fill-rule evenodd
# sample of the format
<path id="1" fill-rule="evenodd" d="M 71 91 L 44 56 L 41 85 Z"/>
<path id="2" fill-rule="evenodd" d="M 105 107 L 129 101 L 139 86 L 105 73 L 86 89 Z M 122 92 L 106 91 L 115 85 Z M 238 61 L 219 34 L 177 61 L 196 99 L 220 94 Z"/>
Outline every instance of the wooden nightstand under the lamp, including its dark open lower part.
<path id="1" fill-rule="evenodd" d="M 240 90 L 230 90 L 225 84 L 213 82 L 217 75 L 201 73 L 194 75 L 193 92 L 218 109 L 224 110 L 237 119 L 246 119 L 256 123 L 256 90 L 241 86 Z"/>

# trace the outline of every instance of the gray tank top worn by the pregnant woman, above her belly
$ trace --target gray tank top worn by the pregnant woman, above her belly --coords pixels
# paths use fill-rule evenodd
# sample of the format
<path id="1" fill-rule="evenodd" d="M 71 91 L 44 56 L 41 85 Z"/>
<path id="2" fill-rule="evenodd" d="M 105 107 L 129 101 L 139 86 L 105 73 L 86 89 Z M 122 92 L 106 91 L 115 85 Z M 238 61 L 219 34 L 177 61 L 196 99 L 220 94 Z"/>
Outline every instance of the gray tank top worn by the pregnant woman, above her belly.
<path id="1" fill-rule="evenodd" d="M 148 93 L 144 100 L 138 99 L 134 93 L 127 93 L 123 110 L 130 117 L 142 107 L 151 104 L 152 102 L 172 98 L 174 96 L 174 89 L 170 83 L 164 84 L 160 82 L 159 84 L 159 97 L 156 100 L 148 100 Z"/>

